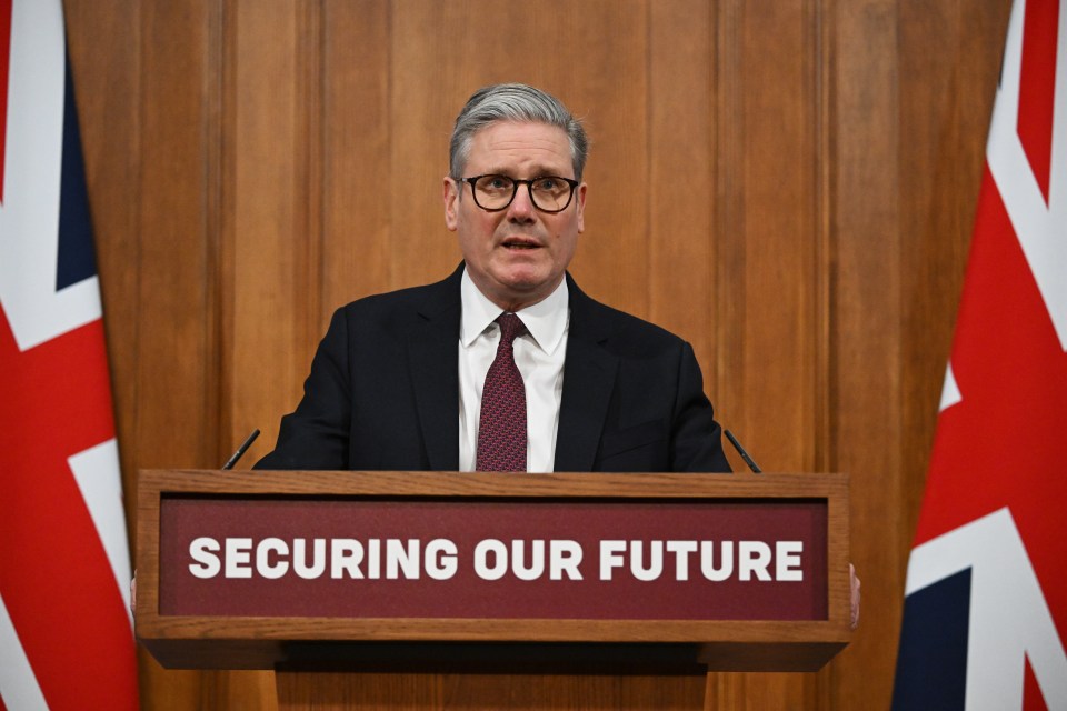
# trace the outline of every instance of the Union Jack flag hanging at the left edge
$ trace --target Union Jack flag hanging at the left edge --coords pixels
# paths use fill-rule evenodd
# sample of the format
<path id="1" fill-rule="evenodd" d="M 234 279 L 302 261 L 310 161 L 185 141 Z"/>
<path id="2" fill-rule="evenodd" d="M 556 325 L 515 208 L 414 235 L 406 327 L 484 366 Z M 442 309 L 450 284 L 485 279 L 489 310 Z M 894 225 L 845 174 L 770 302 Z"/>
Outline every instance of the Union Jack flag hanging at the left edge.
<path id="1" fill-rule="evenodd" d="M 60 0 L 0 0 L 0 709 L 138 704 L 129 549 Z"/>

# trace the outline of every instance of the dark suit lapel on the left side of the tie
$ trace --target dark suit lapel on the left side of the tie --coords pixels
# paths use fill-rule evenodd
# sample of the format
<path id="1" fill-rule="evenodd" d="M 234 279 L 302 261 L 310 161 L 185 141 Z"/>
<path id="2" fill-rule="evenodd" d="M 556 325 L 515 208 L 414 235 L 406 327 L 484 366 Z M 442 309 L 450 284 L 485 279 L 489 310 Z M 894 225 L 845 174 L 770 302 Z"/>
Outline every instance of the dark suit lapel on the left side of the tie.
<path id="1" fill-rule="evenodd" d="M 408 363 L 415 383 L 419 427 L 431 470 L 459 469 L 459 279 L 428 290 L 418 304 L 422 323 L 408 333 Z"/>

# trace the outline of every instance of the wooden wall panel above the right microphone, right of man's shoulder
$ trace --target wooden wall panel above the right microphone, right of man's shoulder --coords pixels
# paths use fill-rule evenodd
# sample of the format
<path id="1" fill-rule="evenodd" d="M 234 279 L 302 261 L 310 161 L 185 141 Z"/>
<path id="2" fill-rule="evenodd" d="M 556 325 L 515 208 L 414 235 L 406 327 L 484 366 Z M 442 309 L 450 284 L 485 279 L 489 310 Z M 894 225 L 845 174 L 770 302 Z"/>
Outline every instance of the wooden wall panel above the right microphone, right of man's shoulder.
<path id="1" fill-rule="evenodd" d="M 819 3 L 720 4 L 720 419 L 768 471 L 812 471 L 826 264 Z M 721 143 L 720 143 L 721 144 Z M 744 464 L 740 464 L 744 465 Z M 724 674 L 720 708 L 809 708 L 810 674 Z"/>

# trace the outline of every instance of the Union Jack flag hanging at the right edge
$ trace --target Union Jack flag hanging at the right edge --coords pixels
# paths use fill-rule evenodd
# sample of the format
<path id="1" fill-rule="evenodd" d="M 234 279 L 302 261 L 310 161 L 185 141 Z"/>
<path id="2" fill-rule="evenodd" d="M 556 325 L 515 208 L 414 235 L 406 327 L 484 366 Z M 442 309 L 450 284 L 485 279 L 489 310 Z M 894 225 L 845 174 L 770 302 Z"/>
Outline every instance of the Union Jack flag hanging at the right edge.
<path id="1" fill-rule="evenodd" d="M 1067 709 L 1067 2 L 1017 0 L 894 709 Z"/>

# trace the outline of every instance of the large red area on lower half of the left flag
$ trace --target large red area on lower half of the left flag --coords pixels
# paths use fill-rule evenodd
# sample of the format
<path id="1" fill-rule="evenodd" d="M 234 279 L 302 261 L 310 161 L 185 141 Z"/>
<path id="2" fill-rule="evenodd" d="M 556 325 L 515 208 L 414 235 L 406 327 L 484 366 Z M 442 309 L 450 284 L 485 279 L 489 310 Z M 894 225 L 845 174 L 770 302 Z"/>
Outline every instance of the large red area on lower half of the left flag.
<path id="1" fill-rule="evenodd" d="M 34 512 L 0 518 L 0 594 L 50 707 L 117 708 L 133 640 L 67 461 L 113 437 L 102 322 L 19 353 L 0 310 L 0 501 Z"/>

